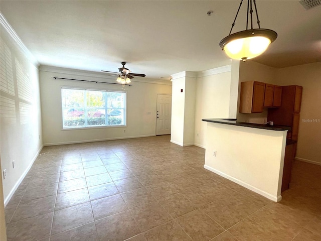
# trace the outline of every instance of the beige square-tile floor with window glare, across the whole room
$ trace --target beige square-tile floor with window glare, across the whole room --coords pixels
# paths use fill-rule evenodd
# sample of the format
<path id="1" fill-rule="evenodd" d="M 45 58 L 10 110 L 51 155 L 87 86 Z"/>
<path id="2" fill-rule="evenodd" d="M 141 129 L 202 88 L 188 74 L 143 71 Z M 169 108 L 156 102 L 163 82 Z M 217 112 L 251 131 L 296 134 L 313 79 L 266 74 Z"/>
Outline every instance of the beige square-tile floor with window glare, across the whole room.
<path id="1" fill-rule="evenodd" d="M 6 206 L 8 240 L 321 240 L 321 166 L 274 203 L 170 136 L 45 147 Z"/>

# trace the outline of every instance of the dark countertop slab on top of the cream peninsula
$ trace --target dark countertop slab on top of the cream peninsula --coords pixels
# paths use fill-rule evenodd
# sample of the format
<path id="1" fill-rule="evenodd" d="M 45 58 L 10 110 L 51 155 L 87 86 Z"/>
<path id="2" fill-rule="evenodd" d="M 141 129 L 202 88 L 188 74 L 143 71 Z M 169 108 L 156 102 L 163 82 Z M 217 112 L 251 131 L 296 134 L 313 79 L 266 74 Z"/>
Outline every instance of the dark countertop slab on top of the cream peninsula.
<path id="1" fill-rule="evenodd" d="M 233 126 L 240 126 L 240 127 L 265 129 L 265 130 L 271 130 L 271 131 L 289 131 L 289 130 L 291 130 L 291 127 L 287 127 L 287 126 L 277 126 L 277 125 L 270 126 L 270 125 L 256 124 L 256 123 L 238 122 L 238 121 L 236 121 L 236 119 L 229 119 L 229 118 L 202 119 L 202 121 L 203 122 L 226 124 L 226 125 L 233 125 Z"/>

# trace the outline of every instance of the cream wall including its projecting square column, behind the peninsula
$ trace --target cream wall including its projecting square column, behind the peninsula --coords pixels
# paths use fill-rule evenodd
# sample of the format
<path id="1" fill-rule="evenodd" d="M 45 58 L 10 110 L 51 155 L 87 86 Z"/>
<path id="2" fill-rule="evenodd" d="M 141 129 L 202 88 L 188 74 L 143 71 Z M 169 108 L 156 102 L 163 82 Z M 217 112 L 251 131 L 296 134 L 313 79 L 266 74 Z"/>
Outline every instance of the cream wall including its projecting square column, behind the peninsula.
<path id="1" fill-rule="evenodd" d="M 234 66 L 238 73 L 238 64 Z M 236 110 L 238 79 L 231 86 L 231 72 L 231 65 L 227 65 L 198 73 L 184 71 L 172 75 L 171 142 L 205 148 L 206 123 L 202 119 L 228 118 L 230 111 Z M 231 100 L 235 103 L 231 104 Z"/>

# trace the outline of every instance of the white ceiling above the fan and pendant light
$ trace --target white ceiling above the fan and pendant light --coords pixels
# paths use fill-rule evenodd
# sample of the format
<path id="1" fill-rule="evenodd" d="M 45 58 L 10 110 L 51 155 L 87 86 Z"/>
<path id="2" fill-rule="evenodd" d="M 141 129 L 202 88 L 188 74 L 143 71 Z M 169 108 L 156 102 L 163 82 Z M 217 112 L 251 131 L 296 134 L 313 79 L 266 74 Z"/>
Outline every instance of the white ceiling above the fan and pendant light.
<path id="1" fill-rule="evenodd" d="M 230 64 L 219 42 L 239 3 L 1 0 L 0 10 L 42 65 L 100 72 L 118 71 L 125 61 L 132 72 L 158 79 Z M 276 31 L 278 38 L 254 61 L 277 68 L 321 61 L 321 6 L 256 3 L 261 28 Z M 232 33 L 245 29 L 246 4 Z"/>

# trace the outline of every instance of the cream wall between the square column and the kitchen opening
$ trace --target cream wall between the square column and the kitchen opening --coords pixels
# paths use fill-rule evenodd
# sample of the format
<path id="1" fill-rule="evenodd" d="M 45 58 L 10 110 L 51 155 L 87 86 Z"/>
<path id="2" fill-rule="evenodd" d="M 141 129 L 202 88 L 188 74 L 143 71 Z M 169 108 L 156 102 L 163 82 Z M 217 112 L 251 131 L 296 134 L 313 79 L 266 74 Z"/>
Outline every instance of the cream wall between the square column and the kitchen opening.
<path id="1" fill-rule="evenodd" d="M 204 118 L 228 118 L 231 91 L 231 66 L 199 73 L 196 85 L 195 134 L 196 146 L 205 148 L 206 122 Z"/>

